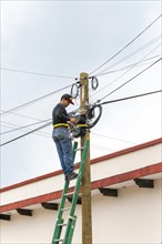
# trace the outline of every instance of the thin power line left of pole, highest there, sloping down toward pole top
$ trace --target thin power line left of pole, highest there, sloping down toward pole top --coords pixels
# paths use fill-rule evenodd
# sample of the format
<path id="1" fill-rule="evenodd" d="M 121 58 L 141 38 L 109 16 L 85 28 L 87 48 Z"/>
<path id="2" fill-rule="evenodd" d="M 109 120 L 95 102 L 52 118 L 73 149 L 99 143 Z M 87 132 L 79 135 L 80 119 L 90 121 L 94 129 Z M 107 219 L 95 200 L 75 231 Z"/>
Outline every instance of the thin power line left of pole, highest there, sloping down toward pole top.
<path id="1" fill-rule="evenodd" d="M 10 71 L 10 72 L 19 72 L 19 73 L 28 73 L 28 74 L 36 74 L 36 75 L 43 75 L 43 77 L 54 77 L 54 78 L 65 78 L 65 79 L 77 79 L 73 77 L 64 77 L 64 75 L 58 75 L 58 74 L 49 74 L 49 73 L 38 73 L 38 72 L 32 72 L 32 71 L 26 71 L 26 70 L 16 70 L 16 69 L 8 69 L 8 68 L 2 68 L 0 67 L 0 70 L 4 70 L 4 71 Z"/>

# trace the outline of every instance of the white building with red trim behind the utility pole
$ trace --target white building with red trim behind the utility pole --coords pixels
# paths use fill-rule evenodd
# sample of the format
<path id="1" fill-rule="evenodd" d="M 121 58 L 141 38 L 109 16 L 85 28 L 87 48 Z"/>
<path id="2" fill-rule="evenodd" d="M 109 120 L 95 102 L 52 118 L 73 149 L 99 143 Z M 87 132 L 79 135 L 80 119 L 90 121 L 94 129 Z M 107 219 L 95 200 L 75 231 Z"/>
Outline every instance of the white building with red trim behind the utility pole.
<path id="1" fill-rule="evenodd" d="M 94 244 L 161 244 L 162 139 L 92 160 L 91 180 Z M 1 189 L 1 244 L 51 243 L 63 182 L 57 171 Z M 75 214 L 80 244 L 80 203 Z"/>

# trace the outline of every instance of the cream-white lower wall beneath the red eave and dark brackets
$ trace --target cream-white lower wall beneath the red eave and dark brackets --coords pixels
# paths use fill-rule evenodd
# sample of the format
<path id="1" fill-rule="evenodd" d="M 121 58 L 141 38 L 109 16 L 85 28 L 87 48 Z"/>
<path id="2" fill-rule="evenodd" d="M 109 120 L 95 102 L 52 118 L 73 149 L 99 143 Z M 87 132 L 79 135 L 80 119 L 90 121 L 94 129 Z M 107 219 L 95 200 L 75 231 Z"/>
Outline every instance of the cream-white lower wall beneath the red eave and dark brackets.
<path id="1" fill-rule="evenodd" d="M 92 196 L 93 244 L 160 244 L 162 241 L 162 185 L 154 189 L 135 184 L 119 190 L 118 197 L 103 196 L 98 190 Z M 69 203 L 68 203 L 69 204 Z M 77 206 L 73 244 L 81 243 L 81 206 Z M 1 244 L 50 244 L 55 211 L 42 207 L 33 216 L 12 214 L 1 221 Z"/>

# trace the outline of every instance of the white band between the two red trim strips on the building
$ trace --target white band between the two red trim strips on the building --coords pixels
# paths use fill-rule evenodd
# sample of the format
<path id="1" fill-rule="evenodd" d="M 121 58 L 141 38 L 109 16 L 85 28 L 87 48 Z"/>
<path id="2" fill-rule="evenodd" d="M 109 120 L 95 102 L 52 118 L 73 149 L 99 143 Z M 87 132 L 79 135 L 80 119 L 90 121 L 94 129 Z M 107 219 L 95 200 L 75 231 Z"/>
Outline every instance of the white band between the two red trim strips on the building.
<path id="1" fill-rule="evenodd" d="M 134 152 L 94 163 L 91 165 L 91 181 L 93 182 L 159 163 L 162 161 L 161 149 L 162 143 L 159 143 L 153 146 L 148 146 Z M 62 190 L 63 184 L 64 176 L 59 174 L 57 176 L 48 177 L 3 192 L 0 196 L 1 205 Z M 74 183 L 72 184 L 74 185 Z"/>

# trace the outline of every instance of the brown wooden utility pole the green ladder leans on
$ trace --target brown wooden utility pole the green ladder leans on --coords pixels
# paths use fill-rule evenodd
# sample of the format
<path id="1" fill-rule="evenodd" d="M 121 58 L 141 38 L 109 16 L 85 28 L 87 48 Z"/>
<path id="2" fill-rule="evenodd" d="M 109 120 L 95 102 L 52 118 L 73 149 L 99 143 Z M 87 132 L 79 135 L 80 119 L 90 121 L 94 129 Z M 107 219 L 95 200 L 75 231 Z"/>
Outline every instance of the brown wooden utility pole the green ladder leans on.
<path id="1" fill-rule="evenodd" d="M 87 102 L 89 102 L 88 73 L 80 73 L 80 112 L 84 114 Z M 81 146 L 83 146 L 85 139 L 90 140 L 89 130 L 87 130 L 84 138 L 81 138 Z M 82 180 L 82 244 L 92 244 L 90 149 Z"/>

